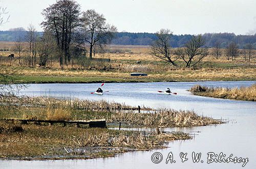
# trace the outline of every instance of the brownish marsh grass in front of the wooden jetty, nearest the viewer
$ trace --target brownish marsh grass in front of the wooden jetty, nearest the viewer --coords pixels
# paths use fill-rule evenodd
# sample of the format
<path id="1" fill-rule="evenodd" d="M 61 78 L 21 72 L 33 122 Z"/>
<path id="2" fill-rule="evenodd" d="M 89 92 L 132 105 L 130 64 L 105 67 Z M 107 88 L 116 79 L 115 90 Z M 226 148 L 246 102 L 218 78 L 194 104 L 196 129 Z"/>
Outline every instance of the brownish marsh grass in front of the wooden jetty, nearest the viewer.
<path id="1" fill-rule="evenodd" d="M 1 126 L 2 126 L 1 122 Z M 10 122 L 7 122 L 10 123 Z M 5 126 L 15 126 L 10 123 Z M 0 132 L 0 158 L 84 159 L 134 150 L 164 148 L 166 140 L 189 139 L 185 133 L 116 131 L 101 128 L 23 125 L 23 131 Z M 9 127 L 13 128 L 13 127 Z M 128 148 L 128 149 L 127 149 Z"/>

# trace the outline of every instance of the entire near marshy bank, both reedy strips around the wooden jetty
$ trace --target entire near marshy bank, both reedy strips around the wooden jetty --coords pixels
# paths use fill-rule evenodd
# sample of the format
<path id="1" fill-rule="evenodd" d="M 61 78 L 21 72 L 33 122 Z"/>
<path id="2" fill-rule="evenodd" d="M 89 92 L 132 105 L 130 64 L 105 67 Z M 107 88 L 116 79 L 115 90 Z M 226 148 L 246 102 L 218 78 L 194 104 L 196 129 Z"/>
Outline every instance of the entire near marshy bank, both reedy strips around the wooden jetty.
<path id="1" fill-rule="evenodd" d="M 2 159 L 88 159 L 117 153 L 166 147 L 175 139 L 189 139 L 187 133 L 164 132 L 161 127 L 190 127 L 221 124 L 221 120 L 198 116 L 194 111 L 155 110 L 119 103 L 89 100 L 61 100 L 43 97 L 1 97 L 1 119 L 87 120 L 105 118 L 122 123 L 121 130 L 89 128 L 87 125 L 0 122 Z M 129 110 L 130 108 L 130 110 Z M 155 127 L 155 131 L 124 131 L 123 127 Z"/>

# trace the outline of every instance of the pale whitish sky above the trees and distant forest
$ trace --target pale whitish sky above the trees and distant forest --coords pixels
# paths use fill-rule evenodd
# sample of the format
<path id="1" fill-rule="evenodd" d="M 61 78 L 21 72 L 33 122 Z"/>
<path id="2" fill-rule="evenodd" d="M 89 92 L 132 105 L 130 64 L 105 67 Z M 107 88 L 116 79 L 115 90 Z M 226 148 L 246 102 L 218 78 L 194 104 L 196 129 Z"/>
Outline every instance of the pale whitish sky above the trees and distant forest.
<path id="1" fill-rule="evenodd" d="M 43 9 L 55 0 L 0 0 L 10 15 L 0 30 L 33 24 L 42 31 Z M 256 0 L 77 0 L 81 11 L 95 9 L 118 32 L 155 33 L 169 29 L 176 35 L 256 33 Z M 7 16 L 7 15 L 6 15 Z"/>

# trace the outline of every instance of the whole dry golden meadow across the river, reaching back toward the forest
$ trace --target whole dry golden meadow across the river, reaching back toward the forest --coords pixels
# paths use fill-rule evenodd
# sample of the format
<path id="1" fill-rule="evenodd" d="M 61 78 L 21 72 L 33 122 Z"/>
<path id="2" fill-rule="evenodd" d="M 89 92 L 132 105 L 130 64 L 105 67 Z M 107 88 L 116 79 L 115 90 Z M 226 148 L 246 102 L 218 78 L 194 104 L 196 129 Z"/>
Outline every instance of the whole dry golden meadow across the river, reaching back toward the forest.
<path id="1" fill-rule="evenodd" d="M 90 82 L 153 82 L 153 81 L 198 81 L 198 80 L 256 80 L 256 59 L 244 61 L 240 55 L 235 61 L 226 60 L 225 56 L 215 59 L 212 55 L 204 58 L 202 63 L 193 68 L 184 68 L 181 60 L 180 67 L 170 66 L 150 54 L 150 46 L 110 45 L 105 53 L 96 53 L 94 58 L 110 59 L 111 62 L 88 61 L 81 64 L 72 59 L 69 65 L 60 68 L 57 59 L 50 61 L 46 68 L 37 65 L 33 68 L 26 66 L 27 52 L 22 53 L 23 66 L 18 59 L 8 60 L 12 52 L 12 43 L 0 43 L 0 47 L 10 51 L 2 51 L 0 62 L 1 72 L 14 72 L 16 83 L 90 83 Z M 137 64 L 136 61 L 141 63 Z M 147 73 L 144 77 L 131 77 L 132 72 Z M 0 77 L 0 80 L 3 77 Z"/>

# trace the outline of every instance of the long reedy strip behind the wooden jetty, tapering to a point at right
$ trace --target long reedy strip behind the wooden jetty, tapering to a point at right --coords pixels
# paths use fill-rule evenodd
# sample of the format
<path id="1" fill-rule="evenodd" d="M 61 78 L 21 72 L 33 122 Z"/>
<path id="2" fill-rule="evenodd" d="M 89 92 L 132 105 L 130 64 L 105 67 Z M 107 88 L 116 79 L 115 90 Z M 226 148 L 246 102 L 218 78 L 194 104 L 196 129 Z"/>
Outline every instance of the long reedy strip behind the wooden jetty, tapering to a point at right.
<path id="1" fill-rule="evenodd" d="M 131 126 L 145 127 L 189 127 L 222 123 L 221 120 L 199 116 L 193 110 L 142 107 L 141 109 L 145 112 L 139 113 L 135 107 L 104 100 L 65 100 L 26 96 L 0 97 L 0 102 L 5 103 L 0 106 L 3 112 L 0 116 L 2 118 L 15 117 L 17 119 L 36 120 L 106 119 L 107 123 L 122 122 Z"/>

